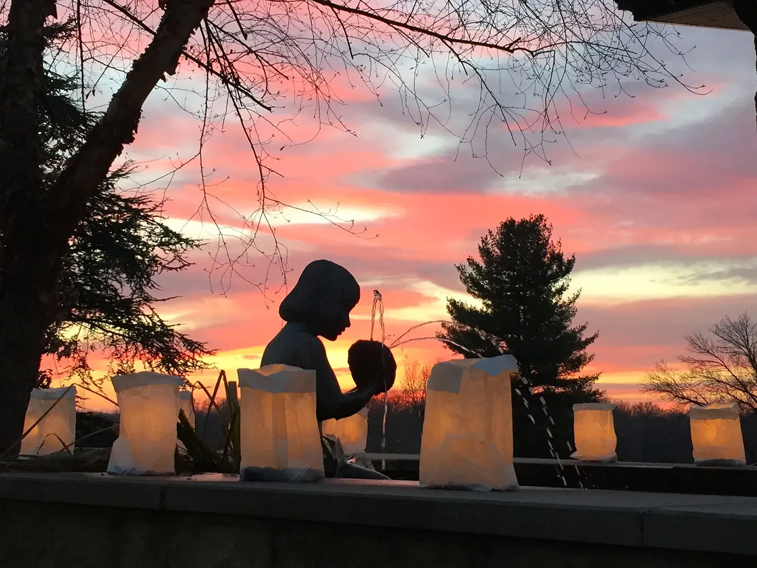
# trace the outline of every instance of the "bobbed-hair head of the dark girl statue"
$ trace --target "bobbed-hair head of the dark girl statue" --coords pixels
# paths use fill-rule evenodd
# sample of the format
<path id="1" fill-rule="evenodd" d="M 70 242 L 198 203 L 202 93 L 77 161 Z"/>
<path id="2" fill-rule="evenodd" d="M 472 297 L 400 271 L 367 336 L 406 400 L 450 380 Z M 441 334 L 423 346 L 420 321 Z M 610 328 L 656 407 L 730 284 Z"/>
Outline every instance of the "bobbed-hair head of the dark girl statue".
<path id="1" fill-rule="evenodd" d="M 346 268 L 332 261 L 313 261 L 279 306 L 287 322 L 305 323 L 329 341 L 350 326 L 350 311 L 360 301 L 360 286 Z"/>

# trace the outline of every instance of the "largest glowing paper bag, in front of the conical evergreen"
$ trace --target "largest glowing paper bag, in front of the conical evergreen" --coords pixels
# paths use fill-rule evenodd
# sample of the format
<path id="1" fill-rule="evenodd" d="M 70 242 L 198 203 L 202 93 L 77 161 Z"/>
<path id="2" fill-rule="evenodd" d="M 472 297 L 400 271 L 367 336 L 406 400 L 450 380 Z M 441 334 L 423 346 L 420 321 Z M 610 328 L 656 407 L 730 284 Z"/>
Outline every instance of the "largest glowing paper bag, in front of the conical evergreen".
<path id="1" fill-rule="evenodd" d="M 516 489 L 512 355 L 438 363 L 426 387 L 419 480 L 428 487 Z"/>

